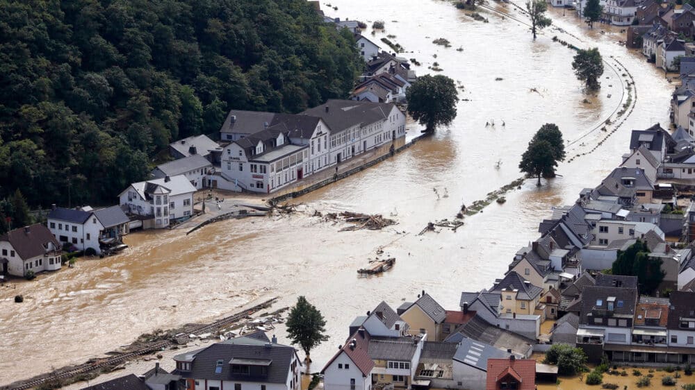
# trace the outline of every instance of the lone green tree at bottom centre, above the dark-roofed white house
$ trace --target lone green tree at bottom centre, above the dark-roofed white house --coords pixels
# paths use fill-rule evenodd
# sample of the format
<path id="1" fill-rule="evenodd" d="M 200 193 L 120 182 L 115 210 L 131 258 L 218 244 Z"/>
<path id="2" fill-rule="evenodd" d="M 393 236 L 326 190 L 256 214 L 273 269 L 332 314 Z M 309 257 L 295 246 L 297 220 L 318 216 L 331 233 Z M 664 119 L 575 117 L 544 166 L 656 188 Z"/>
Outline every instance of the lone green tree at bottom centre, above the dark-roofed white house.
<path id="1" fill-rule="evenodd" d="M 309 351 L 326 341 L 328 336 L 324 334 L 326 321 L 321 312 L 311 305 L 304 296 L 297 298 L 297 304 L 292 307 L 287 316 L 287 333 L 292 344 L 299 344 L 309 359 Z"/>

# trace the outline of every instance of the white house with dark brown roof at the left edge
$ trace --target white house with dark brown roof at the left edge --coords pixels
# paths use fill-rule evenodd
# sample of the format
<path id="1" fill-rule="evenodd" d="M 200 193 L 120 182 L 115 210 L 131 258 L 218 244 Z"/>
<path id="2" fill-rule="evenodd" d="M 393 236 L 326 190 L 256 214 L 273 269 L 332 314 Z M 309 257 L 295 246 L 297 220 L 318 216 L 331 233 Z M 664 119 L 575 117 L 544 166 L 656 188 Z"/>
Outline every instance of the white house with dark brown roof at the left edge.
<path id="1" fill-rule="evenodd" d="M 0 273 L 24 276 L 28 271 L 56 271 L 62 264 L 60 243 L 40 223 L 0 235 Z"/>

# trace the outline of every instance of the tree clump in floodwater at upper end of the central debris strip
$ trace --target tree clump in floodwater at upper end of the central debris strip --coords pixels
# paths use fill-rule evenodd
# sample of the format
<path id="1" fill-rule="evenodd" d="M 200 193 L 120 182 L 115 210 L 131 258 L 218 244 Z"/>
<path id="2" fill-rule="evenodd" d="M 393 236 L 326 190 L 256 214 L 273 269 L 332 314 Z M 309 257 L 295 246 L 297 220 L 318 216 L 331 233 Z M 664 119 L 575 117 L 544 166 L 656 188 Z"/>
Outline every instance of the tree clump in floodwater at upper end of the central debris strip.
<path id="1" fill-rule="evenodd" d="M 539 128 L 528 148 L 521 155 L 519 169 L 529 177 L 538 178 L 541 185 L 541 176 L 555 177 L 557 162 L 564 160 L 564 141 L 562 133 L 555 124 L 544 124 Z"/>

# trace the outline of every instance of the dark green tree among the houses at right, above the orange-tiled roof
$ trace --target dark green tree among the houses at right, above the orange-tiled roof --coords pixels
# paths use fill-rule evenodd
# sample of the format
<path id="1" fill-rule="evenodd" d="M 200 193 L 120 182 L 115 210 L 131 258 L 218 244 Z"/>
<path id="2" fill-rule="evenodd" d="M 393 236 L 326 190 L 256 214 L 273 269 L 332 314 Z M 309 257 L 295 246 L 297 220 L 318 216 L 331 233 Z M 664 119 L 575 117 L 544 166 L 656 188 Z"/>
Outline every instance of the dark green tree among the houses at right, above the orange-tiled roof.
<path id="1" fill-rule="evenodd" d="M 613 275 L 637 276 L 639 294 L 652 295 L 659 288 L 666 273 L 661 269 L 663 261 L 657 257 L 649 257 L 646 242 L 637 239 L 625 251 L 618 251 L 613 262 Z"/>

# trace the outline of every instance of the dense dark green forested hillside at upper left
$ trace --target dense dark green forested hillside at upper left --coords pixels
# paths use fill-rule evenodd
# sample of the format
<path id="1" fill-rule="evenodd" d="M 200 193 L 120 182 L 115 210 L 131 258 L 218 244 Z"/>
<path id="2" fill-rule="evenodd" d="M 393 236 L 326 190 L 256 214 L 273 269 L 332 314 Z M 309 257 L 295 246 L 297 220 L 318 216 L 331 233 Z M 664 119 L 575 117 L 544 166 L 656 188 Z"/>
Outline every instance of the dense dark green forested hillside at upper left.
<path id="1" fill-rule="evenodd" d="M 0 198 L 44 207 L 115 203 L 172 140 L 344 98 L 362 67 L 306 0 L 0 0 L 0 48 Z"/>

